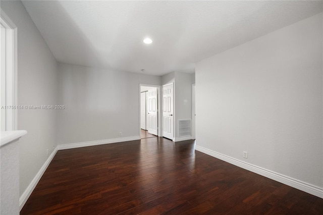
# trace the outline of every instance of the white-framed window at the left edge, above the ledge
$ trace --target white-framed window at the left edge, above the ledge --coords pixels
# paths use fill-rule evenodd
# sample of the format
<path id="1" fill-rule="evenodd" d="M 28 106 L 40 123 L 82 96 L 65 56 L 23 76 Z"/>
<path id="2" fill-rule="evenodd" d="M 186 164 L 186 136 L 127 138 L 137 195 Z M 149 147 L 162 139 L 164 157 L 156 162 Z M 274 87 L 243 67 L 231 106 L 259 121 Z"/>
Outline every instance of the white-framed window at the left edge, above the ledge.
<path id="1" fill-rule="evenodd" d="M 1 10 L 1 131 L 17 130 L 17 27 Z"/>

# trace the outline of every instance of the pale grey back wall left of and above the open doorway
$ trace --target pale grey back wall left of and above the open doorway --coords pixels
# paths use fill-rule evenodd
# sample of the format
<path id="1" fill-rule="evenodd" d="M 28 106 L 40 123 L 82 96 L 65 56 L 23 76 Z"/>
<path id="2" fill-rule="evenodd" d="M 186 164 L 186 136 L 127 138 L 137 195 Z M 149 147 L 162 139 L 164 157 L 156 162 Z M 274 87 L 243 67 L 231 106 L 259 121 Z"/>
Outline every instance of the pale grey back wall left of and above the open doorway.
<path id="1" fill-rule="evenodd" d="M 58 143 L 139 137 L 139 84 L 160 77 L 59 64 Z M 122 132 L 122 136 L 119 136 Z"/>

